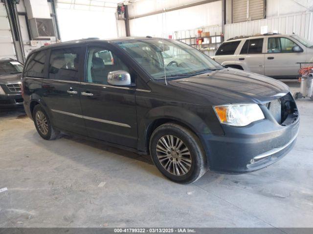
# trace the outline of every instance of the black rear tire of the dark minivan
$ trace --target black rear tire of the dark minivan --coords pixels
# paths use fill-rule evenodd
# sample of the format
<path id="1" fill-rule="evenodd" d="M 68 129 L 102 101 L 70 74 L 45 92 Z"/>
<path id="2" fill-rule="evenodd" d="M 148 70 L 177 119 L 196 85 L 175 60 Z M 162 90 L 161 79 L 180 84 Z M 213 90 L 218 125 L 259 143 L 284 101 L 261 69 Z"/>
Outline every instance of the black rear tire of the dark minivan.
<path id="1" fill-rule="evenodd" d="M 39 119 L 39 116 L 43 116 L 45 119 Z M 37 132 L 45 140 L 53 140 L 60 135 L 60 132 L 53 128 L 48 115 L 46 114 L 44 108 L 42 108 L 40 105 L 36 105 L 34 107 L 33 119 L 34 119 L 34 124 L 35 124 L 35 127 L 37 129 Z M 43 130 L 43 128 L 39 126 L 40 125 L 39 120 L 41 120 L 41 122 L 46 123 L 45 130 Z"/>

